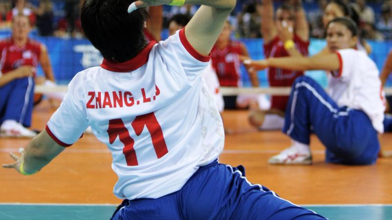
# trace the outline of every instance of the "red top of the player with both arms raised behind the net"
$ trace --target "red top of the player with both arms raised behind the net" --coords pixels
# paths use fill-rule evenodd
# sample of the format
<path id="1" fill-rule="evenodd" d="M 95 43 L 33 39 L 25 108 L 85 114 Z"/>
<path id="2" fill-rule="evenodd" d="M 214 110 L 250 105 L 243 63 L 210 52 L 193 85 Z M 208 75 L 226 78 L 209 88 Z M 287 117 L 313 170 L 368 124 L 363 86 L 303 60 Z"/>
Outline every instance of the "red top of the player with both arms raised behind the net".
<path id="1" fill-rule="evenodd" d="M 304 42 L 297 35 L 294 35 L 294 43 L 298 48 L 299 52 L 308 56 L 309 41 Z M 266 58 L 269 57 L 287 57 L 286 49 L 283 47 L 283 42 L 276 36 L 270 43 L 264 44 L 264 55 Z M 281 68 L 267 68 L 267 76 L 270 87 L 291 87 L 294 80 L 298 76 L 302 76 L 303 72 L 294 71 L 289 69 Z M 271 109 L 279 109 L 282 111 L 286 110 L 289 96 L 272 95 L 271 96 Z"/>

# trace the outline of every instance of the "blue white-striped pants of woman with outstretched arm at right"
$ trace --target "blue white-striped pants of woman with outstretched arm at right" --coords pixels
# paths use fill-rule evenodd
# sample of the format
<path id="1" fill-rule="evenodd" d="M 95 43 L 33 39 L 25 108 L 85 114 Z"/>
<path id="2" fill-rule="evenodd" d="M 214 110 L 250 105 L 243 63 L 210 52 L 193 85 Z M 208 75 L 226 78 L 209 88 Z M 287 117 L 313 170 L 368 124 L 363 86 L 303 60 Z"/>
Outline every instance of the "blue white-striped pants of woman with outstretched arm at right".
<path id="1" fill-rule="evenodd" d="M 287 105 L 283 132 L 309 144 L 314 132 L 326 147 L 326 161 L 373 164 L 380 144 L 368 115 L 338 105 L 307 76 L 298 77 Z"/>

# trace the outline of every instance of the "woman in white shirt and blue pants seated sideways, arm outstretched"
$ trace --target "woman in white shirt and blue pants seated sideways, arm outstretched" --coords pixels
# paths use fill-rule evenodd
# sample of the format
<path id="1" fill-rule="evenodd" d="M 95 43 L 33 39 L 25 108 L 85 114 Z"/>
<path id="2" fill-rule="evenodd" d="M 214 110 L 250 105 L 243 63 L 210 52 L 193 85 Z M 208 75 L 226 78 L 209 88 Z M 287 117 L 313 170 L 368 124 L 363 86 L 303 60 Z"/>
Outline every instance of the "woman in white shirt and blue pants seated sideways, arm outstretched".
<path id="1" fill-rule="evenodd" d="M 362 165 L 373 164 L 377 159 L 377 135 L 384 132 L 385 110 L 377 66 L 366 52 L 353 49 L 358 29 L 351 19 L 342 17 L 329 22 L 326 40 L 333 53 L 245 62 L 258 69 L 331 71 L 329 94 L 309 77 L 295 80 L 283 128 L 293 144 L 271 157 L 272 164 L 312 163 L 312 132 L 326 147 L 327 162 Z"/>

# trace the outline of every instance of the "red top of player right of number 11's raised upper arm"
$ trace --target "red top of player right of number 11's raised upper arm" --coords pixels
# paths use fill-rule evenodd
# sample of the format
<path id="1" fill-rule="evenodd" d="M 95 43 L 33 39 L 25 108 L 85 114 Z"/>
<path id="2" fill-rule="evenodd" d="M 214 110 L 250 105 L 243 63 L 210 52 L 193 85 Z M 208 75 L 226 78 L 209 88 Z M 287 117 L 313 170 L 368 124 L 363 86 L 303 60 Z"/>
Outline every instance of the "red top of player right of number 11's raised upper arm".
<path id="1" fill-rule="evenodd" d="M 219 83 L 222 87 L 238 87 L 240 81 L 240 59 L 243 55 L 241 42 L 230 41 L 226 47 L 219 49 L 215 45 L 211 50 L 212 66 L 217 72 Z"/>

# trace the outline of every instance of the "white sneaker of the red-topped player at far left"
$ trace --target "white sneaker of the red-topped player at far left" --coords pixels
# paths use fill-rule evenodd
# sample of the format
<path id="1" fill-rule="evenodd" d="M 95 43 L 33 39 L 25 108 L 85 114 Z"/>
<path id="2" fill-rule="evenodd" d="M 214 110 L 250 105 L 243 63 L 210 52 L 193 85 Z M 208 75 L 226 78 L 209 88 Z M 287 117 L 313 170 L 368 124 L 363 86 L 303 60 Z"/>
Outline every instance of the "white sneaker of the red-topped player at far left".
<path id="1" fill-rule="evenodd" d="M 7 120 L 4 121 L 0 128 L 1 137 L 35 137 L 36 132 L 26 129 L 22 124 Z"/>

